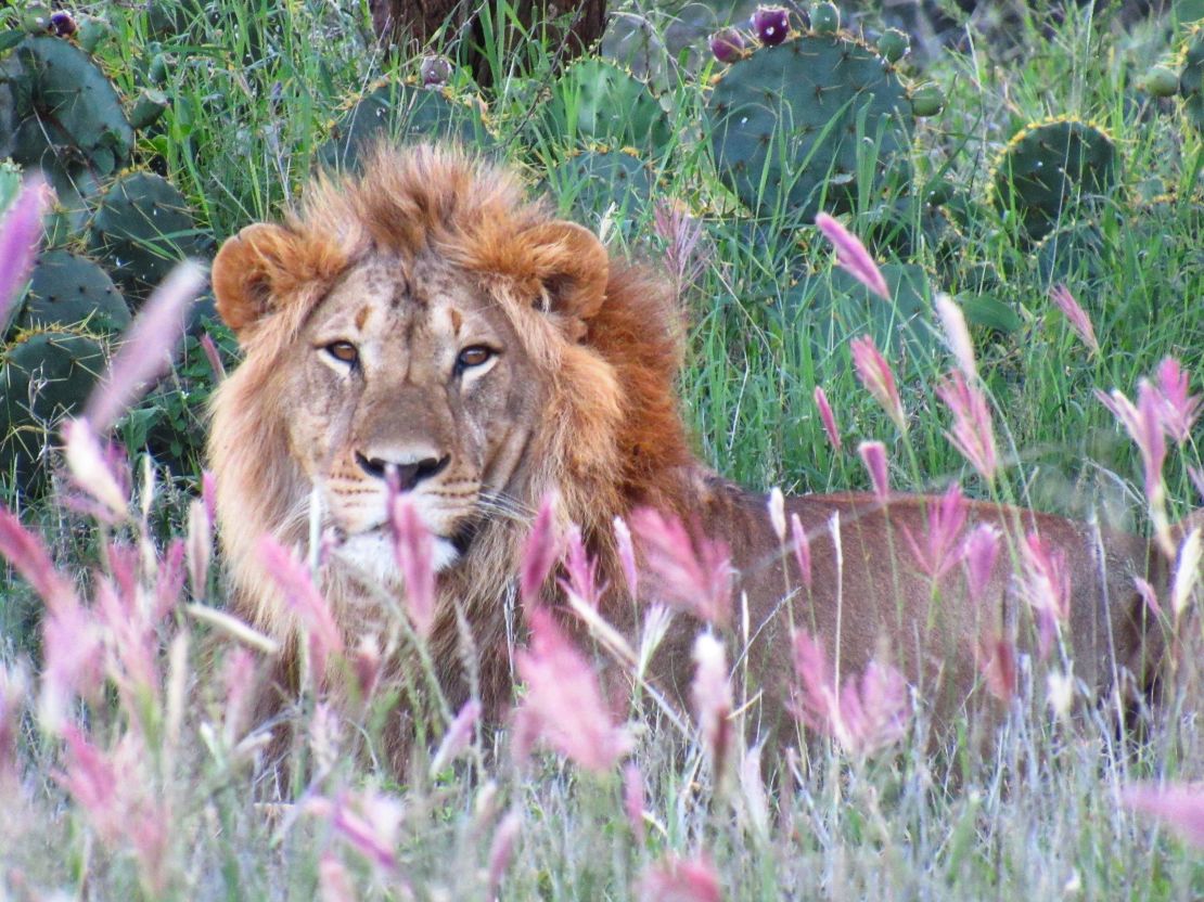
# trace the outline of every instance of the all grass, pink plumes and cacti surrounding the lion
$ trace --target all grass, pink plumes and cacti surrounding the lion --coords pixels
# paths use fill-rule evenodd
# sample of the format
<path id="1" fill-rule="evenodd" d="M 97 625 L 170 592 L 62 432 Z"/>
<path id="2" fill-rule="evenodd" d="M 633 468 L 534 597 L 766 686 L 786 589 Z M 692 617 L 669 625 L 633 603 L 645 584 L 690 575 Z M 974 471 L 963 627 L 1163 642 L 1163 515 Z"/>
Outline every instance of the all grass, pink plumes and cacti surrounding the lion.
<path id="1" fill-rule="evenodd" d="M 78 111 L 71 154 L 52 160 L 55 142 L 33 131 L 0 143 L 58 191 L 46 244 L 90 267 L 70 281 L 55 257 L 12 321 L 0 318 L 2 500 L 16 511 L 0 514 L 13 565 L 0 582 L 0 895 L 1204 894 L 1200 851 L 1134 813 L 1194 811 L 1200 838 L 1198 794 L 1143 789 L 1204 777 L 1199 536 L 1167 539 L 1167 523 L 1204 504 L 1194 7 L 1122 26 L 1090 4 L 1017 5 L 1004 28 L 972 23 L 950 46 L 899 57 L 885 22 L 840 23 L 821 6 L 809 19 L 792 8 L 780 43 L 769 19 L 742 19 L 719 42 L 725 63 L 707 34 L 728 23 L 700 5 L 624 6 L 609 58 L 567 67 L 538 34 L 517 53 L 486 37 L 488 94 L 450 44 L 425 59 L 378 47 L 353 4 L 93 4 L 71 10 L 71 28 L 61 13 L 0 12 L 0 126 L 30 120 L 23 96 L 29 109 L 49 102 L 28 87 L 39 59 L 61 57 L 106 97 Z M 495 34 L 508 7 L 485 17 Z M 378 127 L 502 159 L 566 215 L 663 267 L 689 322 L 683 409 L 725 475 L 787 493 L 870 487 L 863 461 L 885 458 L 896 489 L 956 483 L 1170 541 L 1158 553 L 1176 582 L 1153 599 L 1175 637 L 1159 704 L 1122 729 L 1117 700 L 1093 698 L 1069 666 L 1046 682 L 1027 655 L 1014 672 L 985 658 L 997 730 L 967 723 L 938 747 L 925 700 L 891 672 L 857 687 L 890 710 L 858 719 L 802 653 L 797 741 L 748 748 L 744 699 L 727 688 L 738 629 L 700 640 L 692 711 L 639 694 L 616 718 L 584 652 L 537 617 L 514 658 L 520 718 L 547 742 L 531 755 L 524 731 L 478 723 L 472 704 L 448 710 L 417 673 L 400 700 L 435 695 L 421 706 L 433 713 L 399 783 L 379 746 L 399 698 L 374 687 L 388 646 L 314 645 L 313 621 L 311 648 L 346 661 L 356 702 L 308 686 L 289 712 L 300 728 L 273 746 L 282 725 L 248 705 L 278 649 L 222 612 L 202 491 L 202 408 L 222 367 L 237 366 L 229 333 L 201 304 L 175 370 L 117 411 L 128 457 L 53 421 L 79 413 L 94 358 L 155 303 L 144 298 L 165 261 L 203 260 L 214 239 L 278 215 L 317 166 L 354 166 Z M 143 201 L 171 225 L 147 233 Z M 821 232 L 820 210 L 839 222 Z M 836 263 L 832 242 L 852 253 L 849 232 L 890 301 L 855 261 Z M 52 279 L 89 313 L 47 302 Z M 872 344 L 854 342 L 863 336 Z M 154 357 L 153 338 L 140 340 L 152 345 L 125 346 Z M 874 349 L 897 393 L 874 391 Z M 45 361 L 70 376 L 49 400 Z M 966 392 L 993 421 L 992 467 L 969 447 Z M 66 468 L 46 452 L 64 437 Z M 303 594 L 308 576 L 282 580 Z M 396 612 L 395 640 L 420 645 L 413 625 Z M 650 617 L 620 659 L 639 661 L 657 631 Z M 577 688 L 572 704 L 557 683 Z"/>

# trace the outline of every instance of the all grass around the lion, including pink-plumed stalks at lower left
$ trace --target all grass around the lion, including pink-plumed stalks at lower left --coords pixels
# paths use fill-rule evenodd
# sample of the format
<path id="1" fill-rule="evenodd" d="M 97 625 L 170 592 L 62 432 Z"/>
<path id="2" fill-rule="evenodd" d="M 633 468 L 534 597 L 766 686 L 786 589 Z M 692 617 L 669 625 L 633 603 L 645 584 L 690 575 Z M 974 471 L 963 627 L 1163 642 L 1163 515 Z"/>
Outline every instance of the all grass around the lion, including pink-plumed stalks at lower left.
<path id="1" fill-rule="evenodd" d="M 507 16 L 504 4 L 494 8 L 495 18 Z M 279 213 L 308 178 L 347 97 L 415 69 L 372 44 L 364 10 L 353 5 L 220 0 L 171 34 L 152 34 L 141 7 L 84 11 L 113 25 L 99 53 L 128 94 L 155 54 L 167 60 L 172 106 L 163 133 L 140 153 L 161 158 L 219 238 Z M 1020 324 L 974 334 L 1003 458 L 993 486 L 946 438 L 950 415 L 937 386 L 952 358 L 939 336 L 926 354 L 891 354 L 904 438 L 856 376 L 849 343 L 863 322 L 833 327 L 809 304 L 814 277 L 831 269 L 830 247 L 781 213 L 749 225 L 697 140 L 709 64 L 689 71 L 662 60 L 671 79 L 662 102 L 680 144 L 672 165 L 655 165 L 657 195 L 684 204 L 701 229 L 691 251 L 698 266 L 686 268 L 694 277 L 683 286 L 683 408 L 698 453 L 725 475 L 795 493 L 868 487 L 855 449 L 880 440 L 895 488 L 957 481 L 968 494 L 995 492 L 1150 532 L 1141 453 L 1093 392 L 1135 397 L 1139 378 L 1152 378 L 1168 356 L 1200 388 L 1204 142 L 1132 88 L 1134 73 L 1161 53 L 1163 23 L 1121 32 L 1087 5 L 1067 10 L 1061 23 L 1028 13 L 1017 29 L 1007 46 L 970 34 L 964 49 L 932 64 L 928 76 L 948 87 L 950 102 L 921 130 L 916 179 L 950 178 L 981 200 L 990 162 L 1011 132 L 1074 113 L 1116 137 L 1125 185 L 1102 215 L 1098 263 L 1057 279 L 1086 308 L 1099 355 L 1049 299 L 1055 279 L 1038 255 L 1021 249 L 988 204 L 967 227 L 967 266 L 954 268 L 951 281 L 931 279 L 931 291 L 958 295 L 974 287 L 970 263 L 991 267 L 1003 275 L 995 292 Z M 490 117 L 498 153 L 541 183 L 563 143 L 531 114 L 556 48 L 532 35 L 523 52 L 530 65 L 519 71 L 494 48 Z M 454 76 L 460 87 L 464 78 Z M 577 195 L 574 185 L 550 185 Z M 863 200 L 856 213 L 870 213 L 872 203 Z M 621 220 L 604 202 L 565 206 L 635 256 L 663 259 L 675 239 L 663 224 L 657 230 L 653 204 L 627 208 Z M 937 271 L 929 247 L 914 260 Z M 816 385 L 832 402 L 843 451 L 824 432 Z M 1164 468 L 1171 518 L 1202 503 L 1192 483 L 1198 443 L 1197 431 Z M 26 505 L 7 487 L 8 509 L 43 536 L 72 599 L 45 601 L 46 587 L 39 594 L 16 572 L 0 583 L 0 896 L 1204 895 L 1200 851 L 1125 805 L 1134 784 L 1204 776 L 1198 588 L 1178 613 L 1182 645 L 1161 706 L 1140 712 L 1140 740 L 1121 736 L 1110 700 L 1084 687 L 1051 707 L 1043 671 L 1022 659 L 1016 693 L 990 736 L 988 722 L 975 720 L 934 748 L 920 700 L 905 735 L 884 749 L 860 753 L 799 725 L 785 754 L 746 748 L 737 719 L 720 765 L 690 712 L 672 717 L 643 693 L 624 700 L 626 724 L 598 728 L 616 760 L 590 758 L 589 766 L 579 766 L 571 743 L 529 758 L 514 748 L 514 731 L 484 729 L 471 710 L 427 698 L 420 707 L 433 712 L 423 724 L 429 742 L 414 749 L 399 784 L 380 741 L 397 698 L 371 684 L 388 648 L 330 649 L 344 659 L 347 694 L 359 702 L 305 694 L 285 712 L 296 725 L 291 746 L 273 746 L 268 734 L 282 724 L 258 724 L 247 708 L 270 655 L 262 637 L 220 616 L 220 562 L 206 557 L 205 505 L 190 505 L 187 480 L 157 475 L 131 451 L 130 464 L 101 464 L 132 488 L 128 509 L 100 518 L 53 502 Z M 10 547 L 28 539 L 16 521 L 4 528 Z M 187 545 L 172 545 L 185 536 Z M 49 572 L 26 570 L 35 583 Z M 1169 600 L 1161 598 L 1164 607 Z M 399 643 L 420 641 L 408 619 L 396 619 Z M 638 651 L 650 633 L 627 639 Z M 738 660 L 738 634 L 724 637 Z M 47 663 L 65 670 L 39 673 Z M 537 664 L 526 671 L 524 710 L 551 692 L 544 704 L 555 711 L 555 687 L 541 689 Z M 579 664 L 584 670 L 571 676 L 589 687 L 592 661 Z M 397 692 L 437 693 L 426 676 Z M 737 711 L 740 702 L 732 700 Z M 627 732 L 620 741 L 609 728 Z"/>

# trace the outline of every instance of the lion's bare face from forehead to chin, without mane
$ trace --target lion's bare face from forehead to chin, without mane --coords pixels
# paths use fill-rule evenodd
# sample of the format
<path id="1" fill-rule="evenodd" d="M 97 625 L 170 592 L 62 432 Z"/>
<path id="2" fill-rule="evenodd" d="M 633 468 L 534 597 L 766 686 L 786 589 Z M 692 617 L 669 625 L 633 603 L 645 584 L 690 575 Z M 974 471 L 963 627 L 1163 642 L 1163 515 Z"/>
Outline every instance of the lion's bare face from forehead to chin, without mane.
<path id="1" fill-rule="evenodd" d="M 389 483 L 452 564 L 504 494 L 543 410 L 541 380 L 497 303 L 464 272 L 379 255 L 348 269 L 288 357 L 289 446 L 340 553 L 379 571 Z"/>

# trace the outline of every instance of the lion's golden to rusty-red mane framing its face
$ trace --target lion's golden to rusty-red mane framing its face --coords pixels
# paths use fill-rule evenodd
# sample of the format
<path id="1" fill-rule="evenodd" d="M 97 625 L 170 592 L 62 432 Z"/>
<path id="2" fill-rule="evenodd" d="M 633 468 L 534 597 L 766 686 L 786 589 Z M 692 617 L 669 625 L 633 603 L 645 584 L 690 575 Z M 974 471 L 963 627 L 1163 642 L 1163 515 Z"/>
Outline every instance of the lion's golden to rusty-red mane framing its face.
<path id="1" fill-rule="evenodd" d="M 296 354 L 306 318 L 371 253 L 439 255 L 473 273 L 506 311 L 551 385 L 548 409 L 555 411 L 541 423 L 517 500 L 535 510 L 544 493 L 559 493 L 560 515 L 580 526 L 604 574 L 618 575 L 609 551 L 614 516 L 638 505 L 687 506 L 694 458 L 675 397 L 677 298 L 662 280 L 618 260 L 585 261 L 595 272 L 582 272 L 574 248 L 543 239 L 541 230 L 555 221 L 507 170 L 448 148 L 382 147 L 359 176 L 319 176 L 283 230 L 250 226 L 226 243 L 214 263 L 214 293 L 244 362 L 217 392 L 209 453 L 237 613 L 282 639 L 291 635 L 258 556 L 264 534 L 287 544 L 307 534 L 308 488 L 291 462 L 290 404 L 276 374 Z M 559 303 L 553 295 L 566 279 L 596 283 L 601 303 L 584 310 Z M 459 665 L 453 599 L 478 628 L 478 648 L 504 648 L 501 600 L 513 592 L 527 528 L 486 521 L 464 565 L 441 578 L 436 660 Z M 336 610 L 355 606 L 342 597 L 354 588 L 336 582 L 326 589 Z M 482 678 L 495 684 L 486 702 L 508 698 L 504 659 L 483 661 Z"/>

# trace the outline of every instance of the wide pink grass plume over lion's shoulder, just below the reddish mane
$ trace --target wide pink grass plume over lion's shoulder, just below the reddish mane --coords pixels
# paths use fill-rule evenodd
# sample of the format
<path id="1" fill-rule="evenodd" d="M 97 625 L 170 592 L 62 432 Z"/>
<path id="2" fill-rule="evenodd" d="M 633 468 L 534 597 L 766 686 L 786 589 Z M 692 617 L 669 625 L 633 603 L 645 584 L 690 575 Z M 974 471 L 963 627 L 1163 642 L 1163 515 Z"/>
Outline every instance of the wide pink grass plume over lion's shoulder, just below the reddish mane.
<path id="1" fill-rule="evenodd" d="M 691 535 L 673 515 L 641 508 L 631 515 L 647 576 L 661 599 L 719 627 L 732 621 L 732 565 L 726 542 Z"/>

